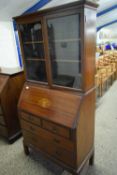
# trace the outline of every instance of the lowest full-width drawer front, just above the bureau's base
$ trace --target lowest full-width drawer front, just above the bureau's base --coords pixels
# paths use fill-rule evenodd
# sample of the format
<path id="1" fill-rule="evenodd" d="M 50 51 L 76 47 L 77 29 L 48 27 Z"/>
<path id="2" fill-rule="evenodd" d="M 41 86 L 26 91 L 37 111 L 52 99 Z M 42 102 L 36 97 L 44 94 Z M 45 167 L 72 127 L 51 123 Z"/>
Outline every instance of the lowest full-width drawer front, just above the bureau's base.
<path id="1" fill-rule="evenodd" d="M 62 161 L 65 164 L 74 166 L 75 164 L 75 154 L 72 151 L 65 150 L 59 146 L 55 146 L 52 143 L 39 138 L 37 139 L 33 134 L 30 134 L 26 131 L 23 132 L 24 141 L 38 148 L 40 151 L 47 153 L 48 155 L 56 158 L 57 160 Z"/>

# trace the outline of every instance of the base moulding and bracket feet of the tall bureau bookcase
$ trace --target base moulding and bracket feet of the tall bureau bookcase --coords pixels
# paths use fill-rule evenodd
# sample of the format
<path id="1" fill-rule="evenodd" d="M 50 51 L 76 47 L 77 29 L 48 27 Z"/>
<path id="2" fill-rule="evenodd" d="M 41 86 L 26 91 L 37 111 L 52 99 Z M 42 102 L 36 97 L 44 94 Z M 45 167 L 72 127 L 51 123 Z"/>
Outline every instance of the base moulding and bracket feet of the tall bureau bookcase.
<path id="1" fill-rule="evenodd" d="M 74 169 L 74 168 L 70 168 L 69 166 L 66 166 L 65 164 L 61 163 L 61 161 L 54 159 L 53 157 L 49 156 L 48 154 L 45 154 L 44 152 L 40 151 L 38 148 L 35 148 L 32 145 L 28 145 L 27 143 L 25 143 L 24 140 L 23 140 L 23 147 L 24 147 L 25 155 L 28 156 L 30 154 L 30 148 L 32 148 L 36 151 L 39 151 L 41 154 L 43 154 L 44 157 L 52 160 L 53 162 L 55 162 L 58 165 L 60 165 L 61 167 L 63 167 L 65 170 L 72 173 L 72 175 L 82 175 L 82 172 L 87 167 L 87 165 L 88 165 L 88 167 L 94 165 L 94 149 L 92 149 L 89 152 L 89 154 L 87 155 L 85 160 L 81 163 L 81 165 L 77 169 Z"/>

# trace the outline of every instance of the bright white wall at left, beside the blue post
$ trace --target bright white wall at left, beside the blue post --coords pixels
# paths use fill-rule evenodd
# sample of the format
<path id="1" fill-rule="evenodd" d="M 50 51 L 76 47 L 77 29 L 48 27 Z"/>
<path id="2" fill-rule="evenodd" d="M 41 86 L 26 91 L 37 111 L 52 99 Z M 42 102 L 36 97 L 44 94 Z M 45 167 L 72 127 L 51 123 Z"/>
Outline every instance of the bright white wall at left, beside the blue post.
<path id="1" fill-rule="evenodd" d="M 0 22 L 0 67 L 18 67 L 12 21 Z"/>

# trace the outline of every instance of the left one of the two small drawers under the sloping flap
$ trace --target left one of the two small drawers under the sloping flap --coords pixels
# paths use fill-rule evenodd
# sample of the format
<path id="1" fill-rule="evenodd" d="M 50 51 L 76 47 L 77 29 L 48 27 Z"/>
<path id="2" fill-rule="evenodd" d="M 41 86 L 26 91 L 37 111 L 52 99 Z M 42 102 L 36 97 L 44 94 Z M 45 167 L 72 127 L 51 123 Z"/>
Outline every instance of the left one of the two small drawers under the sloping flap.
<path id="1" fill-rule="evenodd" d="M 27 114 L 27 113 L 22 112 L 21 113 L 21 118 L 23 118 L 24 120 L 26 120 L 28 122 L 34 123 L 34 124 L 36 124 L 38 126 L 41 126 L 40 118 L 35 117 L 35 116 L 31 115 L 31 114 Z"/>

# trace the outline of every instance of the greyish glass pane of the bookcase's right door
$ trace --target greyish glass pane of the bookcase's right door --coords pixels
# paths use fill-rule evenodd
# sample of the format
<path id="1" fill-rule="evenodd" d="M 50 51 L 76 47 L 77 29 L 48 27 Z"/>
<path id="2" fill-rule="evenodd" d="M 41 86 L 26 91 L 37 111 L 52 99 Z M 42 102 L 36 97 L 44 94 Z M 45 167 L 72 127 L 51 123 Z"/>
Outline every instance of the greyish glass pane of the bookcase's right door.
<path id="1" fill-rule="evenodd" d="M 49 19 L 49 51 L 53 83 L 60 86 L 81 87 L 79 15 Z"/>

